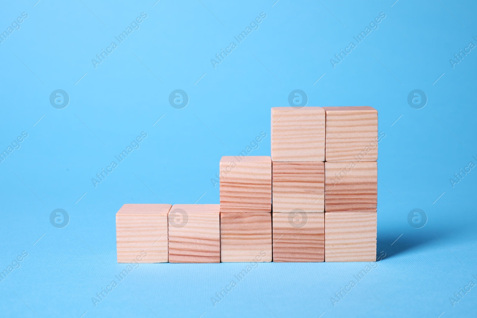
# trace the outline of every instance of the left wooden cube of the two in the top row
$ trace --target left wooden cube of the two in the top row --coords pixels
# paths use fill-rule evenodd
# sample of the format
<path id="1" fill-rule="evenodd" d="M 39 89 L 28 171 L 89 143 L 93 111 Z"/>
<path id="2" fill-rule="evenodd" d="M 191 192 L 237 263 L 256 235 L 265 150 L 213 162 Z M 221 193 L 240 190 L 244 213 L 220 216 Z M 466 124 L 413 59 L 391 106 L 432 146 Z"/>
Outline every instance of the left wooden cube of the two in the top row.
<path id="1" fill-rule="evenodd" d="M 325 161 L 325 112 L 321 107 L 272 107 L 272 161 Z"/>

